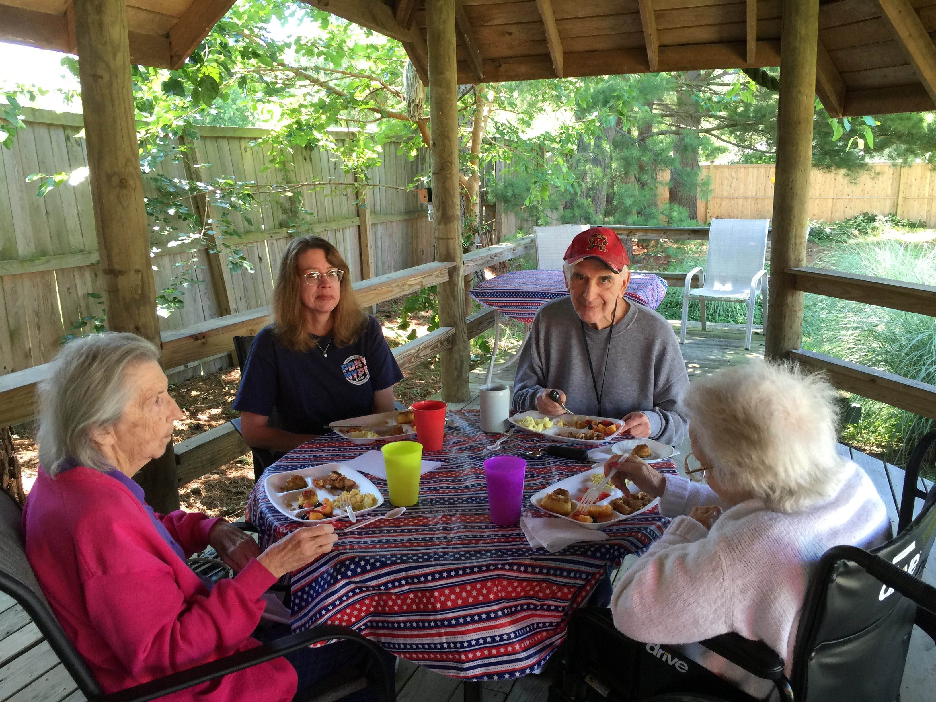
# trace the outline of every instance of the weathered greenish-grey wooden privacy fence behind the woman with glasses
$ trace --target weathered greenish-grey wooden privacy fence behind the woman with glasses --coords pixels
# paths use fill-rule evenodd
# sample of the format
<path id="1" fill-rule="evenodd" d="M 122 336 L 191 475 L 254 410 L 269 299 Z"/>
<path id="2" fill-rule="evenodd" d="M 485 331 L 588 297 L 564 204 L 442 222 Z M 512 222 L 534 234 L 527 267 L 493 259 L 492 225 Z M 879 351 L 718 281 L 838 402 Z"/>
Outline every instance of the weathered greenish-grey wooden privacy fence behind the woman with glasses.
<path id="1" fill-rule="evenodd" d="M 98 300 L 102 300 L 89 297 L 89 293 L 101 295 L 102 285 L 87 181 L 57 187 L 45 197 L 36 197 L 37 183 L 25 183 L 30 173 L 72 171 L 87 165 L 84 139 L 77 136 L 81 117 L 49 110 L 23 111 L 27 128 L 19 133 L 12 150 L 0 149 L 0 374 L 51 360 L 69 327 L 82 317 L 99 314 Z M 242 250 L 255 272 L 232 273 L 223 254 L 209 253 L 207 245 L 201 244 L 195 255 L 204 268 L 197 269 L 195 277 L 203 285 L 185 290 L 183 309 L 160 319 L 162 331 L 178 331 L 227 314 L 248 314 L 271 304 L 273 278 L 290 238 L 287 227 L 300 220 L 300 208 L 314 217 L 311 224 L 298 227 L 300 233 L 316 233 L 335 244 L 355 281 L 434 259 L 431 223 L 415 192 L 362 188 L 368 191 L 368 207 L 361 208 L 355 188 L 345 186 L 354 184 L 353 177 L 344 172 L 335 154 L 320 148 L 296 149 L 287 168 L 263 171 L 265 149 L 253 142 L 265 136 L 266 130 L 198 127 L 197 131 L 199 139 L 190 144 L 192 161 L 211 166 L 196 174 L 191 164 L 167 159 L 156 168 L 158 173 L 203 181 L 226 175 L 260 185 L 339 184 L 302 189 L 295 197 L 271 198 L 251 218 L 253 224 L 232 215 L 241 238 L 227 242 Z M 369 172 L 368 180 L 405 188 L 424 168 L 425 158 L 420 153 L 411 161 L 394 144 L 387 144 L 382 165 Z M 145 180 L 144 190 L 147 196 L 154 194 L 152 184 Z M 199 213 L 219 216 L 212 211 Z M 169 246 L 174 239 L 162 229 L 151 231 L 157 291 L 168 287 L 178 274 L 177 264 L 192 256 L 186 246 Z"/>

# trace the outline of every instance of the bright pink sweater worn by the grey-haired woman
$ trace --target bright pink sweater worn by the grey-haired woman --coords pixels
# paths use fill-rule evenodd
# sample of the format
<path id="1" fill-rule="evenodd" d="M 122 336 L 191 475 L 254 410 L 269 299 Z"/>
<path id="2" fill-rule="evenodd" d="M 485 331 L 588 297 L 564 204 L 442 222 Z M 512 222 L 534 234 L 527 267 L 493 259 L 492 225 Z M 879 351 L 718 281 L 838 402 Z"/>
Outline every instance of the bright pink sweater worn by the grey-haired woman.
<path id="1" fill-rule="evenodd" d="M 205 548 L 216 519 L 156 515 L 186 555 Z M 66 635 L 105 692 L 257 645 L 250 638 L 276 580 L 251 561 L 209 592 L 118 480 L 79 466 L 38 472 L 22 514 L 26 556 Z M 172 700 L 289 700 L 283 658 L 189 688 Z"/>

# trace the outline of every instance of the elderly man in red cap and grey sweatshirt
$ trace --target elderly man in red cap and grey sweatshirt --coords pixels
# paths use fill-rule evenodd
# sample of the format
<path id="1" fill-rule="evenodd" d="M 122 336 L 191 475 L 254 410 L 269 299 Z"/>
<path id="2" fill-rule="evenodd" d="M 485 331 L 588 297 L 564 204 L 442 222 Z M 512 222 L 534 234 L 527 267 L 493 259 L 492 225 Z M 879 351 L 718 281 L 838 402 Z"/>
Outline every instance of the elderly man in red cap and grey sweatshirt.
<path id="1" fill-rule="evenodd" d="M 607 227 L 579 233 L 565 251 L 569 297 L 544 305 L 517 366 L 514 408 L 622 417 L 624 430 L 665 444 L 686 436 L 689 376 L 669 323 L 625 300 L 630 259 Z"/>

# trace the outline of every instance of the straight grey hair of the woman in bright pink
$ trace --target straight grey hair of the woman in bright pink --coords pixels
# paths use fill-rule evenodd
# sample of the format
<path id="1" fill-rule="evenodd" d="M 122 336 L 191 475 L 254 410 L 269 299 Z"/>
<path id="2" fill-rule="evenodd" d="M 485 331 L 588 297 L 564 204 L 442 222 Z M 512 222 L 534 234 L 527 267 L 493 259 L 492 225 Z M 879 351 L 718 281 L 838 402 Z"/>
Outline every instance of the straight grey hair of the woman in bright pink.
<path id="1" fill-rule="evenodd" d="M 124 414 L 133 388 L 124 383 L 129 366 L 159 360 L 159 350 L 136 334 L 106 331 L 68 342 L 39 382 L 39 465 L 58 475 L 78 464 L 112 468 L 92 439 Z"/>

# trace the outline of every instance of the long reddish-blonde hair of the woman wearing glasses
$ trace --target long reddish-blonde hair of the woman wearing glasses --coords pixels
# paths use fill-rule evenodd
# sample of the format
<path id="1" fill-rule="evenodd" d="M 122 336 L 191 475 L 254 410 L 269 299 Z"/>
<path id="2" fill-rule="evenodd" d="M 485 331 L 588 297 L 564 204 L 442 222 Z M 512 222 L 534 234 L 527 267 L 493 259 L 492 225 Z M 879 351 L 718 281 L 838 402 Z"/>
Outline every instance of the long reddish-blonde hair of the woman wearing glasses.
<path id="1" fill-rule="evenodd" d="M 305 285 L 299 270 L 299 257 L 306 251 L 325 252 L 329 264 L 344 271 L 339 284 L 338 304 L 331 311 L 334 326 L 331 338 L 336 346 L 354 344 L 363 333 L 367 316 L 360 309 L 358 296 L 351 286 L 351 269 L 331 242 L 321 237 L 296 237 L 286 246 L 280 260 L 280 272 L 273 287 L 273 330 L 281 344 L 291 351 L 308 351 L 314 346 L 306 330 L 305 307 L 302 305 L 300 285 Z"/>

